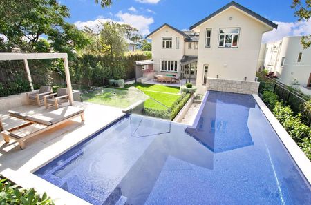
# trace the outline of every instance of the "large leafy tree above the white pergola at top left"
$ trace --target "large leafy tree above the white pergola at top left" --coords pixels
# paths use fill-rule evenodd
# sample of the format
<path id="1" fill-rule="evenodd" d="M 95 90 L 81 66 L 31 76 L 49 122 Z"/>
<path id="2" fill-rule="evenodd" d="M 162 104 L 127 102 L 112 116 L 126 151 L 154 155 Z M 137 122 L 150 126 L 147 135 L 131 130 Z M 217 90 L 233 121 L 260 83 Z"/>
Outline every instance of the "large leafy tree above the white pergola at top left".
<path id="1" fill-rule="evenodd" d="M 8 39 L 0 43 L 8 51 L 19 48 L 22 52 L 36 52 L 39 43 L 41 50 L 73 54 L 74 50 L 84 48 L 88 39 L 65 21 L 68 17 L 68 8 L 57 0 L 0 1 L 0 33 Z M 50 43 L 39 42 L 43 35 Z"/>

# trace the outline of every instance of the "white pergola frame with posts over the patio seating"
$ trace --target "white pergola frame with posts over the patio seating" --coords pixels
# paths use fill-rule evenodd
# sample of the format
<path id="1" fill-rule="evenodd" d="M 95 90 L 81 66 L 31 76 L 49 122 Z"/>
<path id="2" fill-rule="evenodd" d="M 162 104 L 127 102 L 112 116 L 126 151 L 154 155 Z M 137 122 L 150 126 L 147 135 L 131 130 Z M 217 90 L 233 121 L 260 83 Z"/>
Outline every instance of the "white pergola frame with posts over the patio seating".
<path id="1" fill-rule="evenodd" d="M 25 70 L 26 70 L 26 74 L 28 77 L 31 90 L 34 90 L 34 88 L 33 88 L 30 70 L 28 66 L 28 60 L 36 60 L 36 59 L 63 59 L 64 60 L 64 68 L 65 68 L 66 83 L 67 83 L 67 88 L 68 88 L 69 103 L 70 103 L 70 106 L 73 106 L 73 89 L 71 87 L 70 72 L 69 72 L 69 66 L 68 66 L 68 55 L 66 53 L 57 53 L 57 52 L 55 53 L 22 53 L 22 52 L 0 53 L 0 61 L 23 60 L 23 64 L 25 66 Z"/>

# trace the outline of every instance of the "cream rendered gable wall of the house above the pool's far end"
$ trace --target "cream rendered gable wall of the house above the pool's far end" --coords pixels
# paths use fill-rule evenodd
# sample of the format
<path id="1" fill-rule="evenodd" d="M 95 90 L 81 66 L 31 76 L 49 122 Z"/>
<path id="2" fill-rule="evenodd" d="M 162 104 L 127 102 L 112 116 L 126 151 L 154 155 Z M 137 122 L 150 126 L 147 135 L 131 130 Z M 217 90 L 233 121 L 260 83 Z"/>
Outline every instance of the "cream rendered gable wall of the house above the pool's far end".
<path id="1" fill-rule="evenodd" d="M 230 20 L 232 18 L 232 20 Z M 205 48 L 205 30 L 211 28 L 211 47 Z M 219 28 L 241 28 L 238 48 L 218 48 Z M 198 75 L 196 86 L 204 93 L 202 86 L 203 66 L 209 65 L 208 77 L 232 80 L 254 81 L 263 32 L 270 30 L 252 17 L 229 8 L 216 17 L 202 23 L 196 32 L 200 32 L 198 46 Z"/>

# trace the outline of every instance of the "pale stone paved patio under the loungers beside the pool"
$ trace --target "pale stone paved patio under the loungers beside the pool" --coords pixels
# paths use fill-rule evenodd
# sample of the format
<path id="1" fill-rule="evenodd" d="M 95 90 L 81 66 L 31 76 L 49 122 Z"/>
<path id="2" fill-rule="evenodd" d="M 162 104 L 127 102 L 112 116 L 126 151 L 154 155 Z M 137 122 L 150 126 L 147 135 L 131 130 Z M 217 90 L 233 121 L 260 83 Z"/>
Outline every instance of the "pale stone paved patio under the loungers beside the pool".
<path id="1" fill-rule="evenodd" d="M 66 124 L 28 139 L 24 150 L 20 150 L 18 143 L 14 140 L 11 139 L 10 143 L 6 144 L 1 138 L 1 174 L 25 188 L 34 187 L 39 193 L 47 192 L 55 200 L 56 204 L 88 204 L 32 174 L 37 168 L 44 166 L 59 154 L 64 153 L 75 144 L 124 115 L 121 109 L 109 106 L 79 102 L 75 102 L 75 106 L 84 107 L 84 124 L 81 123 L 80 117 L 77 117 Z M 53 108 L 46 110 L 43 106 L 40 108 L 37 106 L 20 106 L 11 110 L 27 113 L 28 115 L 39 115 L 39 113 L 49 112 Z M 5 129 L 23 122 L 15 117 L 8 116 L 7 112 L 8 110 L 0 110 L 0 118 L 3 120 Z"/>

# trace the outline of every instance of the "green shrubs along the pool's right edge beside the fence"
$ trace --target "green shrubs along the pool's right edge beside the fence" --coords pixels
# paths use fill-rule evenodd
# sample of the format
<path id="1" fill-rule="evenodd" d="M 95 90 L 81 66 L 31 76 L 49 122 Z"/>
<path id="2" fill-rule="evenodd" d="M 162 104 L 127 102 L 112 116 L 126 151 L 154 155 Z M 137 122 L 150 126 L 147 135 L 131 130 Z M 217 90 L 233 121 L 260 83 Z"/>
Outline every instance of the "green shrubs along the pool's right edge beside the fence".
<path id="1" fill-rule="evenodd" d="M 272 110 L 276 119 L 279 120 L 296 144 L 303 150 L 303 153 L 311 160 L 311 128 L 303 124 L 301 114 L 294 115 L 290 106 L 283 106 L 283 102 L 278 101 L 278 96 L 271 91 L 263 92 L 263 101 Z M 305 110 L 308 110 L 308 108 L 305 108 Z"/>

